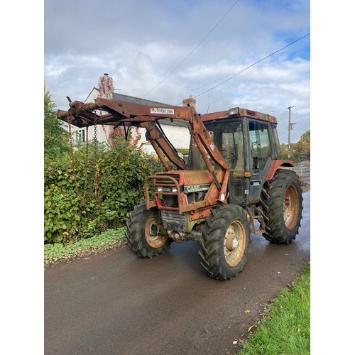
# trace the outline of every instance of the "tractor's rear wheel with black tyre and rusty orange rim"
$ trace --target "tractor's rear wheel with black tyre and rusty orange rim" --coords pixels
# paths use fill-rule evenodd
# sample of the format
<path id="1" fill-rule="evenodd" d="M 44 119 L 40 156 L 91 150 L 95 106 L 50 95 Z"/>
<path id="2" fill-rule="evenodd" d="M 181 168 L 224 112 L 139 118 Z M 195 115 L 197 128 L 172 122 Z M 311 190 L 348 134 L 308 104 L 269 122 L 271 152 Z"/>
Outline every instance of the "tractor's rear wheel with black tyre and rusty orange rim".
<path id="1" fill-rule="evenodd" d="M 263 214 L 266 232 L 271 243 L 288 244 L 296 238 L 302 219 L 302 189 L 293 170 L 277 170 L 261 192 L 259 211 Z"/>

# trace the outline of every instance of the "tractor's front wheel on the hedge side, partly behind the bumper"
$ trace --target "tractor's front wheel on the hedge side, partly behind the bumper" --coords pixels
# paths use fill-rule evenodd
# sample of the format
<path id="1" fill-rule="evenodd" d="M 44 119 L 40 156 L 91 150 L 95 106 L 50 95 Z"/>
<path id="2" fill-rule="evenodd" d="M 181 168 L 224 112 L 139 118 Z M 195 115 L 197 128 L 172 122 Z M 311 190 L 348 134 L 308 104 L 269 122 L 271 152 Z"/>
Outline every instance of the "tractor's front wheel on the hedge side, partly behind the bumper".
<path id="1" fill-rule="evenodd" d="M 134 206 L 126 222 L 129 249 L 141 258 L 152 258 L 170 249 L 173 239 L 160 233 L 161 221 L 157 208 L 147 211 L 146 202 Z"/>

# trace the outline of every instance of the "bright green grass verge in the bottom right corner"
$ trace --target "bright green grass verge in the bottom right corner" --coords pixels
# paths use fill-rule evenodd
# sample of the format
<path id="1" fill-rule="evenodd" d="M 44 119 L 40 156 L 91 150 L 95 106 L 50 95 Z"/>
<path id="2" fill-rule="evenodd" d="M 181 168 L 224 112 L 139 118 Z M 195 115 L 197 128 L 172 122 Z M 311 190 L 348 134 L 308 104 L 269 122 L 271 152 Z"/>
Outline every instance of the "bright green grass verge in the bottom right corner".
<path id="1" fill-rule="evenodd" d="M 238 355 L 310 354 L 310 264 L 264 310 Z"/>

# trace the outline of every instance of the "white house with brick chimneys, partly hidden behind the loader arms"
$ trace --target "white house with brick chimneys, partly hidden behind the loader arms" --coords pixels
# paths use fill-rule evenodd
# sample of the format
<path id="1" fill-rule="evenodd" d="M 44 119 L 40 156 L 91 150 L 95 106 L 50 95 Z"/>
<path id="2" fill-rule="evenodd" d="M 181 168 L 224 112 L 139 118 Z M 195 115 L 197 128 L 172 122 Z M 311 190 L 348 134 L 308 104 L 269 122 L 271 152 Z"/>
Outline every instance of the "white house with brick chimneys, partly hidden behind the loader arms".
<path id="1" fill-rule="evenodd" d="M 110 77 L 105 75 L 104 77 L 101 77 L 99 80 L 99 87 L 102 89 L 102 82 L 104 80 L 111 80 Z M 102 84 L 102 85 L 100 85 Z M 108 99 L 115 99 L 115 100 L 120 100 L 120 101 L 126 101 L 126 102 L 136 102 L 137 104 L 146 104 L 146 105 L 167 105 L 164 104 L 163 102 L 155 102 L 151 100 L 146 100 L 146 99 L 140 99 L 138 97 L 132 97 L 129 95 L 124 95 L 124 94 L 117 94 L 116 92 L 113 92 L 113 85 L 112 82 L 109 82 L 109 89 L 107 87 L 104 87 L 100 94 L 100 89 L 97 89 L 97 87 L 94 87 L 92 89 L 92 92 L 89 93 L 87 99 L 85 100 L 85 104 L 89 102 L 94 102 L 97 97 L 106 97 Z M 105 90 L 108 90 L 105 92 Z M 184 104 L 194 104 L 195 105 L 196 100 L 192 99 L 192 96 L 190 95 L 189 99 L 184 100 Z M 165 120 L 160 120 L 159 121 L 160 126 L 162 127 L 165 135 L 168 137 L 169 141 L 175 146 L 175 148 L 179 149 L 188 149 L 190 146 L 190 132 L 187 128 L 187 123 L 180 123 L 180 122 L 171 122 L 171 121 L 165 121 Z M 133 128 L 134 129 L 134 128 Z M 109 142 L 109 133 L 113 130 L 112 126 L 103 126 L 103 125 L 97 125 L 97 141 L 98 142 Z M 82 128 L 79 129 L 75 126 L 72 126 L 72 133 L 77 133 L 75 134 L 75 139 L 77 140 L 77 143 L 84 142 L 89 138 L 89 141 L 91 141 L 94 138 L 94 126 L 90 126 L 88 129 L 88 136 L 86 137 L 86 129 Z M 147 141 L 146 139 L 146 129 L 143 128 L 138 128 L 136 131 L 132 130 L 132 136 L 139 135 L 140 139 L 138 140 L 137 145 L 141 146 L 143 151 L 146 153 L 153 153 L 155 154 L 155 151 L 153 147 L 151 146 L 151 143 Z"/>

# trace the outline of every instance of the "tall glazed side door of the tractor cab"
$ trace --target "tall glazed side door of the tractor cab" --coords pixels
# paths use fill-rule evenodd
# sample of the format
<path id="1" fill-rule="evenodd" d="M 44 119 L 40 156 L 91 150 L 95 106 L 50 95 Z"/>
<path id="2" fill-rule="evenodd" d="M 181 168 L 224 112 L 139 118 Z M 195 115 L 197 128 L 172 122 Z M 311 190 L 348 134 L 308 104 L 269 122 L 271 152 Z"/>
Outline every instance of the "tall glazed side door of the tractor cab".
<path id="1" fill-rule="evenodd" d="M 249 119 L 249 151 L 251 178 L 249 179 L 249 202 L 256 202 L 261 194 L 271 166 L 271 140 L 268 123 Z"/>

